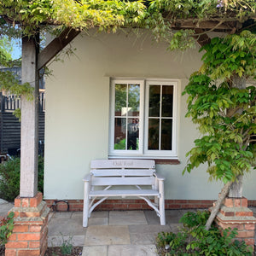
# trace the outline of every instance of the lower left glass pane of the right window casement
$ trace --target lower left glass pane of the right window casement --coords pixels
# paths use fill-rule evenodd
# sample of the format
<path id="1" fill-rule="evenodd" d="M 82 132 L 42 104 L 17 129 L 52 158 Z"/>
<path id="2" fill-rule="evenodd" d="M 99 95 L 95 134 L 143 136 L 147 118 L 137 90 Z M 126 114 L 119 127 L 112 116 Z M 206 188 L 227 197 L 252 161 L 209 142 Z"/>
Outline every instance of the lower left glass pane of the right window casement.
<path id="1" fill-rule="evenodd" d="M 160 119 L 148 119 L 148 150 L 159 150 Z"/>

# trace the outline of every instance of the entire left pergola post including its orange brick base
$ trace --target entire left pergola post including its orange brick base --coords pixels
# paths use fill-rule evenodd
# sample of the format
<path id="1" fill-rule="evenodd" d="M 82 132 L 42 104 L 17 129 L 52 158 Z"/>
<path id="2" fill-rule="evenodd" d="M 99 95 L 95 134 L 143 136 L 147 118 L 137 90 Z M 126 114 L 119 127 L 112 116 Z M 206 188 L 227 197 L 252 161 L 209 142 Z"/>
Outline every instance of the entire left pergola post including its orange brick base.
<path id="1" fill-rule="evenodd" d="M 14 230 L 5 255 L 42 256 L 47 248 L 49 208 L 38 192 L 38 37 L 22 38 L 22 83 L 34 87 L 32 101 L 21 96 L 20 195 L 15 198 Z"/>

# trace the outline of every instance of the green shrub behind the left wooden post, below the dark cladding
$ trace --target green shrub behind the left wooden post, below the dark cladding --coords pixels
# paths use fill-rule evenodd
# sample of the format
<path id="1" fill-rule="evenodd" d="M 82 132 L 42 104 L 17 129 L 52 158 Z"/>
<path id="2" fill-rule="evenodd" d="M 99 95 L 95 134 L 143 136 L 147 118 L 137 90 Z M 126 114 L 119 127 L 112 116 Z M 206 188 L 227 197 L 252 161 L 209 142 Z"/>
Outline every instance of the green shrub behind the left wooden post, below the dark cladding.
<path id="1" fill-rule="evenodd" d="M 38 157 L 38 191 L 44 193 L 44 158 Z M 20 194 L 20 158 L 0 164 L 0 198 L 15 201 Z"/>

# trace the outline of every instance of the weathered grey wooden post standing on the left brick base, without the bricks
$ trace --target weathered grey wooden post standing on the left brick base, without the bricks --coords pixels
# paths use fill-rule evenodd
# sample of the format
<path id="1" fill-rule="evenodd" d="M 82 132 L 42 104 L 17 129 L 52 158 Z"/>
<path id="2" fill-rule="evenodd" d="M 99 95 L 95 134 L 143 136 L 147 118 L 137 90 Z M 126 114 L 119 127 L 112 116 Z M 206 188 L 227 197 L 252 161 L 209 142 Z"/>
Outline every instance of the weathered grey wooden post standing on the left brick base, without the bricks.
<path id="1" fill-rule="evenodd" d="M 20 197 L 38 193 L 38 42 L 36 38 L 22 38 L 22 84 L 34 87 L 34 97 L 28 101 L 21 96 L 20 131 Z"/>

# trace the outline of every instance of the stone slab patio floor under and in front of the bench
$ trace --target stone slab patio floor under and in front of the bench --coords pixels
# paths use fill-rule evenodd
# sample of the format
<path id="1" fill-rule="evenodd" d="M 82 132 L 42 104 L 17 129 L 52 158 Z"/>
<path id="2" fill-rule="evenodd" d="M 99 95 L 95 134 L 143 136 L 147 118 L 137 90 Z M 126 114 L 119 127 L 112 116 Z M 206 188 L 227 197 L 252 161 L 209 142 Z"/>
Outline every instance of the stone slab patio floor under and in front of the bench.
<path id="1" fill-rule="evenodd" d="M 179 218 L 188 210 L 166 210 L 166 226 L 154 211 L 92 212 L 87 228 L 82 212 L 50 213 L 48 245 L 60 246 L 72 238 L 83 247 L 83 256 L 153 256 L 155 237 L 160 231 L 176 231 Z"/>

